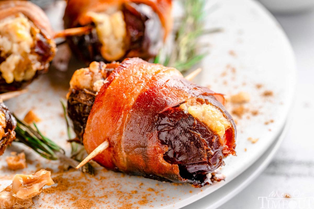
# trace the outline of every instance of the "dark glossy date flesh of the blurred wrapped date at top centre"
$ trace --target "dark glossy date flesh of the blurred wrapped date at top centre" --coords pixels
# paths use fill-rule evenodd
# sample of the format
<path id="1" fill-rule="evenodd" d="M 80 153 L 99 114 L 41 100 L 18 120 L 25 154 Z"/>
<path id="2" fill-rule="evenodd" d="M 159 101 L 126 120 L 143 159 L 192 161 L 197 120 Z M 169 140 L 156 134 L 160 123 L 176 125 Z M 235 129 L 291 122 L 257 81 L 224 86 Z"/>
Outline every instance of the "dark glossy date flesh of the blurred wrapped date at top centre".
<path id="1" fill-rule="evenodd" d="M 163 42 L 163 30 L 158 15 L 149 6 L 136 3 L 124 3 L 122 12 L 127 29 L 127 48 L 125 55 L 116 61 L 127 57 L 140 57 L 143 60 L 155 57 Z M 68 42 L 73 53 L 87 65 L 92 61 L 111 61 L 105 60 L 100 54 L 102 45 L 96 29 L 89 34 L 69 37 Z"/>

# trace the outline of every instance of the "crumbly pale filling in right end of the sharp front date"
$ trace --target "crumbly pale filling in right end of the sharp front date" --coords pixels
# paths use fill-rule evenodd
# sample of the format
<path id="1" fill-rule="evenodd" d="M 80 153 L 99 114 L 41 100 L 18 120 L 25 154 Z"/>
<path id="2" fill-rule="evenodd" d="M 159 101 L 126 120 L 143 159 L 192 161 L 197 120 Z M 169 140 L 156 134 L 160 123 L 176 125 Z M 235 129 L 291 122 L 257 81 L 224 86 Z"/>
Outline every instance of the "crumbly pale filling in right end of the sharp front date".
<path id="1" fill-rule="evenodd" d="M 201 104 L 195 98 L 181 104 L 180 108 L 205 123 L 211 130 L 216 131 L 221 138 L 231 127 L 230 121 L 224 117 L 218 108 L 210 104 Z"/>

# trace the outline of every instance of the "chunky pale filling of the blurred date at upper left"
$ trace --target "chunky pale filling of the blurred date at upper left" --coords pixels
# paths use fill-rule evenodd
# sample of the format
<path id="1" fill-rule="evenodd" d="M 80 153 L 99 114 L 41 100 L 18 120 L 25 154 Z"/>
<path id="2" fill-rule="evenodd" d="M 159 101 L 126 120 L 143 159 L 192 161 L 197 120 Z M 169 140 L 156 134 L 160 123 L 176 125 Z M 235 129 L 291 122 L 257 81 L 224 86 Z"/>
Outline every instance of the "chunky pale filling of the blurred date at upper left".
<path id="1" fill-rule="evenodd" d="M 0 56 L 5 59 L 0 72 L 7 83 L 30 80 L 43 69 L 38 55 L 32 52 L 38 33 L 39 29 L 22 13 L 0 22 Z"/>

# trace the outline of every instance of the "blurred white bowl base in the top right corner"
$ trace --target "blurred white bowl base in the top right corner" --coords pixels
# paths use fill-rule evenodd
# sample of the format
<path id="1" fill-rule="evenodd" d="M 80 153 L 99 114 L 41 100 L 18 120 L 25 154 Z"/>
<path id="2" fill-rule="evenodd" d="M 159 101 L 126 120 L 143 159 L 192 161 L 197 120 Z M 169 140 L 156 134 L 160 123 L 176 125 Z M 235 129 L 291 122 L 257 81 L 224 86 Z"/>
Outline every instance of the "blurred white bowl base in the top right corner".
<path id="1" fill-rule="evenodd" d="M 298 13 L 314 8 L 314 0 L 259 0 L 273 13 Z"/>

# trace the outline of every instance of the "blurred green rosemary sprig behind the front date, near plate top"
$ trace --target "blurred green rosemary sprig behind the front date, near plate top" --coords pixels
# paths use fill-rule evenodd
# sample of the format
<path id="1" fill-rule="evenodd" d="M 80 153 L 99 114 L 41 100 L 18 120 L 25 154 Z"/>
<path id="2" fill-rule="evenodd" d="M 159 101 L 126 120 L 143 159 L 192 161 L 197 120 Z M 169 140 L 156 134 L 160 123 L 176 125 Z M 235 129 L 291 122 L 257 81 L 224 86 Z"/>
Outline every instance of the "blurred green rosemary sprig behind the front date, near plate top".
<path id="1" fill-rule="evenodd" d="M 175 38 L 170 53 L 162 59 L 163 50 L 156 56 L 154 63 L 175 67 L 181 72 L 189 70 L 199 63 L 207 53 L 199 53 L 198 38 L 204 34 L 220 31 L 205 30 L 203 27 L 206 12 L 206 0 L 181 0 L 184 14 L 179 27 L 175 30 Z"/>

